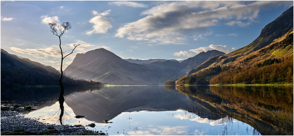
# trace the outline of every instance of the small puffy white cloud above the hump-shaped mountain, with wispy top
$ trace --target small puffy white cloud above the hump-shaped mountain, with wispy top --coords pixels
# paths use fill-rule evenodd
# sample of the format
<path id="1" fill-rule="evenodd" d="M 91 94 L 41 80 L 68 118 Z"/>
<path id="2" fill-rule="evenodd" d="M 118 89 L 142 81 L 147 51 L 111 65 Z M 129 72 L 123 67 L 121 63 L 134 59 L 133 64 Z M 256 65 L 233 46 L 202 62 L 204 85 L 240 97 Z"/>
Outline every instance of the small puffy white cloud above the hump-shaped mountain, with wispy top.
<path id="1" fill-rule="evenodd" d="M 91 34 L 105 34 L 108 29 L 112 28 L 112 25 L 110 24 L 110 19 L 107 17 L 103 17 L 109 14 L 111 10 L 105 11 L 103 13 L 98 13 L 97 11 L 92 11 L 93 15 L 96 15 L 92 19 L 90 19 L 90 23 L 94 24 L 93 25 L 93 30 L 92 31 L 87 31 L 86 34 L 91 35 Z"/>

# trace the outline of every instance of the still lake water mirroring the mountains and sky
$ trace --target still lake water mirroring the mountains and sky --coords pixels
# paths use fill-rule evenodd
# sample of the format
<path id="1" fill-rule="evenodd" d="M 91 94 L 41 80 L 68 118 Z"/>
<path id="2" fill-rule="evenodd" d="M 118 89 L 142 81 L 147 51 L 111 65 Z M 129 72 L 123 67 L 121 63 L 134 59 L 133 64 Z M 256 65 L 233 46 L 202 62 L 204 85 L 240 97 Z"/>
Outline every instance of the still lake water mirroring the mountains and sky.
<path id="1" fill-rule="evenodd" d="M 1 88 L 1 106 L 32 105 L 37 110 L 19 111 L 60 124 L 58 96 L 57 87 Z M 260 124 L 273 127 L 265 112 L 293 118 L 293 86 L 68 87 L 64 97 L 63 124 L 95 123 L 86 128 L 108 135 L 261 135 Z"/>

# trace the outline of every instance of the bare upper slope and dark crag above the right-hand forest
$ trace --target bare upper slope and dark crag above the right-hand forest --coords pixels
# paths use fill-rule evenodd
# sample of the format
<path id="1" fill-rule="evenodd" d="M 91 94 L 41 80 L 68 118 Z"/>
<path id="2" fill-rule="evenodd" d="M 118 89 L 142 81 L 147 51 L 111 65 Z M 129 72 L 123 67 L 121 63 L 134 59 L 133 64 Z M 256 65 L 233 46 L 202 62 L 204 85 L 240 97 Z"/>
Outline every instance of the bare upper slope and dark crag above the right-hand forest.
<path id="1" fill-rule="evenodd" d="M 190 72 L 188 72 L 188 75 L 196 73 L 202 69 L 206 69 L 208 67 L 213 67 L 218 65 L 219 66 L 232 65 L 232 66 L 240 66 L 240 67 L 249 66 L 250 64 L 253 64 L 253 63 L 243 63 L 243 61 L 240 61 L 240 60 L 245 60 L 247 58 L 246 61 L 249 61 L 249 59 L 251 60 L 253 58 L 259 58 L 258 56 L 252 57 L 252 55 L 254 55 L 252 53 L 255 51 L 260 51 L 262 49 L 264 50 L 264 48 L 267 47 L 268 45 L 272 46 L 271 49 L 275 49 L 274 46 L 276 44 L 274 44 L 274 42 L 281 43 L 281 41 L 274 41 L 274 40 L 283 37 L 285 34 L 289 33 L 291 29 L 293 29 L 293 6 L 289 8 L 287 11 L 285 11 L 282 15 L 280 15 L 277 19 L 275 19 L 274 21 L 266 25 L 261 30 L 259 37 L 256 38 L 249 45 L 225 55 L 212 57 L 206 60 L 205 62 L 203 62 L 198 67 L 192 69 Z M 289 52 L 291 53 L 291 51 Z M 267 52 L 264 52 L 264 53 L 267 54 Z M 293 54 L 293 51 L 292 51 L 292 54 Z M 280 54 L 279 57 L 283 57 L 285 55 L 287 56 L 287 54 L 282 53 Z M 275 55 L 265 55 L 261 59 L 258 59 L 258 61 L 261 62 L 261 61 L 264 61 L 265 59 L 273 58 L 273 57 L 275 57 Z"/>

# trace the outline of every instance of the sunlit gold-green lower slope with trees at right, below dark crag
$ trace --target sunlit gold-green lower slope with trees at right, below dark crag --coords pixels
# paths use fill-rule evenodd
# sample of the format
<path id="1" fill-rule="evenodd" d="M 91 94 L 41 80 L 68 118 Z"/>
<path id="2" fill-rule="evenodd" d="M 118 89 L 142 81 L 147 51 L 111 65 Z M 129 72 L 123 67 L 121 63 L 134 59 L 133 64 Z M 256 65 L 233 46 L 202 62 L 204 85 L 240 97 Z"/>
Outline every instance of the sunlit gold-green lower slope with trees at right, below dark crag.
<path id="1" fill-rule="evenodd" d="M 226 57 L 222 58 L 215 65 L 181 77 L 177 84 L 208 84 L 210 79 L 210 84 L 293 84 L 293 28 L 236 61 L 225 63 Z"/>

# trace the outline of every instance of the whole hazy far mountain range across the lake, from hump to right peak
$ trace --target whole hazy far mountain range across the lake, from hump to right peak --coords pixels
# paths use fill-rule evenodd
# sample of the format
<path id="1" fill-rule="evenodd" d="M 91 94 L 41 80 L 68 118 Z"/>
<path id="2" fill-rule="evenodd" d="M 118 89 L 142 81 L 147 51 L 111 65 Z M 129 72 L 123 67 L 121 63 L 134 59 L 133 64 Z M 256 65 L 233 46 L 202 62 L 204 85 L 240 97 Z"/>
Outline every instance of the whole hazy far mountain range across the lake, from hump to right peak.
<path id="1" fill-rule="evenodd" d="M 225 54 L 216 50 L 201 52 L 195 57 L 177 60 L 121 59 L 106 49 L 95 49 L 85 54 L 77 54 L 67 67 L 66 74 L 73 79 L 108 82 L 117 84 L 162 84 L 176 80 L 210 57 Z"/>

